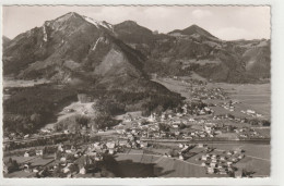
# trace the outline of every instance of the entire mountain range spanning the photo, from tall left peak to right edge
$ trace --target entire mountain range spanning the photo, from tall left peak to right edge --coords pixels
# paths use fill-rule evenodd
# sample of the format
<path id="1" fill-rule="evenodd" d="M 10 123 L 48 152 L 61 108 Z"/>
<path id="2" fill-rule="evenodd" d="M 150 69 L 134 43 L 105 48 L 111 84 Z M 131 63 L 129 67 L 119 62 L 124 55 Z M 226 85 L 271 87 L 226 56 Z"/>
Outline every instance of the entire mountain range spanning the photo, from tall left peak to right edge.
<path id="1" fill-rule="evenodd" d="M 111 25 L 68 13 L 16 36 L 3 51 L 4 75 L 105 88 L 132 88 L 131 80 L 147 82 L 152 73 L 193 72 L 213 82 L 268 78 L 270 40 L 225 41 L 198 25 L 157 34 L 133 21 Z"/>

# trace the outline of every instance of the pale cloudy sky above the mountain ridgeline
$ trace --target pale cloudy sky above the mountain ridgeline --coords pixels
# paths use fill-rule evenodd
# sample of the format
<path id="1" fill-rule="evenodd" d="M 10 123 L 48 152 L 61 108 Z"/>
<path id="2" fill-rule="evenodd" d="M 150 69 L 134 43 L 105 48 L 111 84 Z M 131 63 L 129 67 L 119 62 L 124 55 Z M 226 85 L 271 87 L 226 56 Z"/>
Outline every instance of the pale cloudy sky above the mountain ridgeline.
<path id="1" fill-rule="evenodd" d="M 118 24 L 127 20 L 168 33 L 199 25 L 223 40 L 270 38 L 270 7 L 3 7 L 2 30 L 10 39 L 45 21 L 76 12 Z"/>

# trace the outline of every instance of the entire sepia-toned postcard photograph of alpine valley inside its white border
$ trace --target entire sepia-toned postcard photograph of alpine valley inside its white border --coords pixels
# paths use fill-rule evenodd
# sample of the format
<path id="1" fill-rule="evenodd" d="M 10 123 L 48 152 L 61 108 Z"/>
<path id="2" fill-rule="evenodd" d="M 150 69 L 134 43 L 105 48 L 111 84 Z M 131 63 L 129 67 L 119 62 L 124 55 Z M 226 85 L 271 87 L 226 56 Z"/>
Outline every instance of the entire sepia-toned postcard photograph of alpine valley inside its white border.
<path id="1" fill-rule="evenodd" d="M 269 178 L 270 5 L 2 5 L 3 178 Z"/>

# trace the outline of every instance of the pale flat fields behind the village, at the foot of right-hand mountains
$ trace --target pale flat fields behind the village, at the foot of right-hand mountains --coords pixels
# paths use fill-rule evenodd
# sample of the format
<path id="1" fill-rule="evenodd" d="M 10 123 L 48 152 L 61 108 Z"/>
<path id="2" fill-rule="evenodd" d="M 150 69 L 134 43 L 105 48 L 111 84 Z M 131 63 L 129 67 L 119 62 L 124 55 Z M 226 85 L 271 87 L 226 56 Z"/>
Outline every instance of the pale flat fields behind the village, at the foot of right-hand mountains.
<path id="1" fill-rule="evenodd" d="M 180 77 L 184 80 L 178 80 L 174 78 L 158 78 L 155 82 L 161 83 L 168 89 L 175 92 L 181 94 L 181 96 L 190 99 L 190 94 L 188 92 L 190 85 L 186 84 L 185 80 L 188 77 Z M 203 78 L 201 78 L 203 79 Z M 252 109 L 258 113 L 262 114 L 263 117 L 270 119 L 271 110 L 271 87 L 270 84 L 226 84 L 226 83 L 208 83 L 208 88 L 220 87 L 223 88 L 233 100 L 238 100 L 240 103 L 236 108 L 234 114 L 244 116 L 245 114 L 239 113 L 240 110 Z M 221 100 L 205 100 L 210 103 L 218 103 Z M 215 107 L 214 111 L 216 114 L 230 113 L 221 107 Z"/>

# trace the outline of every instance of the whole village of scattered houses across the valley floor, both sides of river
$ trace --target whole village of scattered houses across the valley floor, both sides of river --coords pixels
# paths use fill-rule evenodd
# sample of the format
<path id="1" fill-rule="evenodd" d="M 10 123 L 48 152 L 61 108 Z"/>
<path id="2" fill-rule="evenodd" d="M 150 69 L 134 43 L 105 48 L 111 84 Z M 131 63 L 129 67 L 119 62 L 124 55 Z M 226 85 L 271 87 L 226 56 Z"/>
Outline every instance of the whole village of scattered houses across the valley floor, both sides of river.
<path id="1" fill-rule="evenodd" d="M 3 142 L 4 154 L 9 154 L 4 156 L 4 175 L 114 177 L 116 175 L 106 168 L 109 157 L 116 160 L 121 156 L 135 154 L 150 156 L 153 160 L 177 160 L 201 169 L 204 177 L 253 176 L 256 172 L 247 170 L 246 163 L 241 163 L 248 160 L 244 160 L 246 151 L 238 145 L 269 144 L 270 133 L 263 131 L 270 128 L 270 122 L 249 108 L 240 110 L 242 115 L 235 114 L 240 101 L 230 100 L 222 88 L 202 87 L 205 83 L 200 80 L 190 83 L 200 87 L 189 88 L 190 99 L 173 110 L 152 112 L 149 116 L 128 112 L 115 117 L 120 121 L 118 125 L 100 129 L 91 125 L 60 129 L 55 125 L 54 128 L 42 128 L 37 134 L 9 134 Z M 76 104 L 96 109 L 91 107 L 92 99 L 87 98 L 87 101 Z M 73 114 L 79 111 L 68 108 L 64 112 Z M 82 112 L 84 116 L 88 114 Z M 222 149 L 214 145 L 218 142 L 236 145 Z M 185 176 L 192 175 L 188 173 Z"/>

